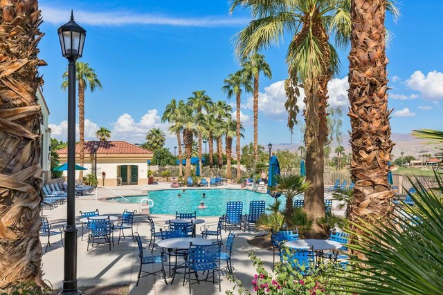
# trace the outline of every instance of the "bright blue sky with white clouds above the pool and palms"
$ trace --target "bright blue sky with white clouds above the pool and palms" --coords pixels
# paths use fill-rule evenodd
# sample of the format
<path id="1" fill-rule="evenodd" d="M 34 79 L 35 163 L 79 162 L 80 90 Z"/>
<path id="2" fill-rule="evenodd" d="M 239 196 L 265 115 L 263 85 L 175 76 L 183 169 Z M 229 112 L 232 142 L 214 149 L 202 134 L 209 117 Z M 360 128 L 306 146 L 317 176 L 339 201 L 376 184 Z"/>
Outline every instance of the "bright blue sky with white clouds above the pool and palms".
<path id="1" fill-rule="evenodd" d="M 239 68 L 232 38 L 250 20 L 246 11 L 229 15 L 227 1 L 40 0 L 39 5 L 46 33 L 39 44 L 40 58 L 48 63 L 40 72 L 53 137 L 58 139 L 66 139 L 67 95 L 60 90 L 66 59 L 60 53 L 57 28 L 69 20 L 71 9 L 87 29 L 81 61 L 96 69 L 103 84 L 103 91 L 86 93 L 89 140 L 105 126 L 112 131 L 111 140 L 143 142 L 150 128 L 168 129 L 160 117 L 170 99 L 186 99 L 195 90 L 206 90 L 214 100 L 226 99 L 223 79 Z M 397 23 L 387 17 L 386 26 L 394 35 L 388 47 L 392 132 L 443 127 L 441 8 L 440 0 L 406 0 L 400 3 Z M 286 48 L 283 42 L 262 52 L 273 77 L 260 79 L 260 144 L 291 142 L 283 108 Z M 341 73 L 329 84 L 329 104 L 343 108 L 345 114 L 347 50 L 340 57 Z M 243 95 L 244 143 L 253 137 L 251 108 L 251 95 Z M 343 132 L 348 130 L 349 120 L 343 115 Z M 293 142 L 300 142 L 300 131 Z M 174 144 L 174 137 L 168 136 L 167 145 Z"/>

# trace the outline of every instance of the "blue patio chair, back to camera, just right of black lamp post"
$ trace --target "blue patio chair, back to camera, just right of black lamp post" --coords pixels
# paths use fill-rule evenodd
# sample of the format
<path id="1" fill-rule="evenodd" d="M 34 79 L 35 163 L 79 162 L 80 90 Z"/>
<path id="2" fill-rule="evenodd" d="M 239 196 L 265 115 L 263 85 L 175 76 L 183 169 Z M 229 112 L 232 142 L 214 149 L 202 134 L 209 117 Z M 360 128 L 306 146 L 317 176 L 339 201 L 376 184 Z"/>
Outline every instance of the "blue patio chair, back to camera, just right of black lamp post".
<path id="1" fill-rule="evenodd" d="M 111 242 L 114 247 L 114 225 L 112 224 L 109 217 L 100 218 L 100 219 L 89 219 L 88 218 L 88 247 L 87 251 L 89 251 L 89 244 L 91 247 L 94 247 L 94 243 L 96 244 L 108 244 L 109 251 L 111 251 Z"/>

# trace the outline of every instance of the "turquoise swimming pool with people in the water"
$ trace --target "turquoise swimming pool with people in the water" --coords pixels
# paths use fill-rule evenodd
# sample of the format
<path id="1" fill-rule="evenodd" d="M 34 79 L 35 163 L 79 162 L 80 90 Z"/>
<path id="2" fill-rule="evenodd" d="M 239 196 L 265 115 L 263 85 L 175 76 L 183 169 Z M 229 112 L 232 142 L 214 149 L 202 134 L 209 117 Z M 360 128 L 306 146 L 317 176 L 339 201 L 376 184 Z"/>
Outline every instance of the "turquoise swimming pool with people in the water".
<path id="1" fill-rule="evenodd" d="M 181 197 L 177 194 L 180 193 Z M 202 198 L 203 193 L 206 198 Z M 152 214 L 175 215 L 176 211 L 188 213 L 197 211 L 197 216 L 221 216 L 226 213 L 226 203 L 230 201 L 242 201 L 243 213 L 249 212 L 249 202 L 264 200 L 266 207 L 274 202 L 274 198 L 265 193 L 256 193 L 246 189 L 187 189 L 184 193 L 181 189 L 165 189 L 150 191 L 146 196 L 128 196 L 123 198 L 109 199 L 111 202 L 140 203 L 143 198 L 154 200 L 154 207 L 150 209 Z M 281 198 L 281 197 L 280 197 Z M 203 201 L 206 209 L 198 209 Z M 284 203 L 284 202 L 283 202 Z"/>

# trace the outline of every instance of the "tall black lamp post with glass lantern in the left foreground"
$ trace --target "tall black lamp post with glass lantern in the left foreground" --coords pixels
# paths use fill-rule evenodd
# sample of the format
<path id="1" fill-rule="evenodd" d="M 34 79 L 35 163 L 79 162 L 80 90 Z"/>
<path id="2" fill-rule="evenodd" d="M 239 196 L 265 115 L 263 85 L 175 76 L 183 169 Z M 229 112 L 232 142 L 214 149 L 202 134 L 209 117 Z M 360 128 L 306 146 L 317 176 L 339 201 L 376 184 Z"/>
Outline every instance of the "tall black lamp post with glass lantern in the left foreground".
<path id="1" fill-rule="evenodd" d="M 71 20 L 57 30 L 62 55 L 68 59 L 68 205 L 64 230 L 64 277 L 60 294 L 82 294 L 77 287 L 77 228 L 75 227 L 75 61 L 82 57 L 86 30 Z"/>

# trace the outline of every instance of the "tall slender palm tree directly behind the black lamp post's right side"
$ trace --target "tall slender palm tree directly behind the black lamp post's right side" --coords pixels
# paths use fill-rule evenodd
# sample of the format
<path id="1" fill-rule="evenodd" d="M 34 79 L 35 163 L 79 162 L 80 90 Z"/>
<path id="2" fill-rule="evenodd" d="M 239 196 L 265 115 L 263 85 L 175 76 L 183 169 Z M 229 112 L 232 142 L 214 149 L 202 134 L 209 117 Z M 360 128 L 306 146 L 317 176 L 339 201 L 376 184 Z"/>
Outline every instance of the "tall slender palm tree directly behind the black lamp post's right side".
<path id="1" fill-rule="evenodd" d="M 89 90 L 91 92 L 96 91 L 96 89 L 102 90 L 102 82 L 98 79 L 96 70 L 89 67 L 87 62 L 76 61 L 75 66 L 77 72 L 75 73 L 75 79 L 78 83 L 78 125 L 79 125 L 79 135 L 80 135 L 80 166 L 84 164 L 84 91 Z M 62 89 L 66 90 L 68 88 L 68 71 L 62 75 Z M 79 179 L 83 179 L 83 171 L 79 171 Z"/>

